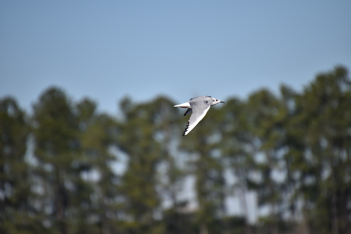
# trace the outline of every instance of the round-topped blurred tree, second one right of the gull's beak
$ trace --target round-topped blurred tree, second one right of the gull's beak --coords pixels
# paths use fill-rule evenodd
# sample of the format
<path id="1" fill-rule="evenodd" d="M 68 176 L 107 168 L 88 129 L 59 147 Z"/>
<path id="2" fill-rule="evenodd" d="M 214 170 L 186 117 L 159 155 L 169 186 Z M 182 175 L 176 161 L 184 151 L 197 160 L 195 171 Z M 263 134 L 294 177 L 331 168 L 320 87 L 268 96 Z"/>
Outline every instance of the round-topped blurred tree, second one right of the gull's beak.
<path id="1" fill-rule="evenodd" d="M 249 96 L 247 118 L 255 137 L 259 152 L 255 156 L 256 167 L 260 174 L 259 181 L 251 180 L 257 188 L 259 205 L 269 205 L 270 233 L 278 233 L 278 221 L 282 219 L 282 193 L 285 182 L 281 168 L 285 131 L 282 121 L 285 109 L 280 99 L 269 91 L 262 89 Z"/>

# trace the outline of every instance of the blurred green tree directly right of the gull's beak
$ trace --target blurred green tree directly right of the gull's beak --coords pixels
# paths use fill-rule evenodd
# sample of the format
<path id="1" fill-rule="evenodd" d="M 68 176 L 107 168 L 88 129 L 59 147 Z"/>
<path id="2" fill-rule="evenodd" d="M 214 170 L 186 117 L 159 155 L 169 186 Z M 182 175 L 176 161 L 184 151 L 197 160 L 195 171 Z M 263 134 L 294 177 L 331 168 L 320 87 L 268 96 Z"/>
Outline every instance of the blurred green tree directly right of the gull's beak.
<path id="1" fill-rule="evenodd" d="M 235 182 L 229 188 L 228 195 L 237 195 L 240 199 L 240 210 L 244 213 L 245 233 L 251 233 L 248 221 L 247 178 L 253 171 L 253 155 L 256 152 L 254 135 L 250 132 L 247 121 L 246 103 L 239 99 L 227 100 L 223 109 L 223 121 L 220 131 L 223 135 L 221 149 L 226 168 L 234 175 Z"/>

